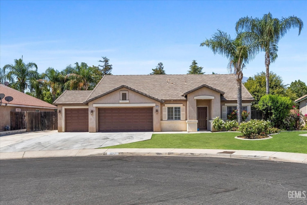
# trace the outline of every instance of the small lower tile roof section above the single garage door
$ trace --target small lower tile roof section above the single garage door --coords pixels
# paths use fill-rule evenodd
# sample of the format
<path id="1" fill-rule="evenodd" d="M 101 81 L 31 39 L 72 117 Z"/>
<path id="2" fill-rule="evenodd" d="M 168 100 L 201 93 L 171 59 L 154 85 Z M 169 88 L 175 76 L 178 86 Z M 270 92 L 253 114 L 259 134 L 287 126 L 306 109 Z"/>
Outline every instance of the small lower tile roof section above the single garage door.
<path id="1" fill-rule="evenodd" d="M 53 104 L 82 104 L 87 100 L 92 90 L 65 90 Z"/>

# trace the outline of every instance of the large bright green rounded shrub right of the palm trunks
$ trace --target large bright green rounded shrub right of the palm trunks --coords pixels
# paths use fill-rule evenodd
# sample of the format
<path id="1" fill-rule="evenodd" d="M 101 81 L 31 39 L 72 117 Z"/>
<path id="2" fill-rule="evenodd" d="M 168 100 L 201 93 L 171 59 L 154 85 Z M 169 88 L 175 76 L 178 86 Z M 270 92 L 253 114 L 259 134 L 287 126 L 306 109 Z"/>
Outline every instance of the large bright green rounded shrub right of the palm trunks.
<path id="1" fill-rule="evenodd" d="M 264 113 L 265 119 L 270 120 L 277 127 L 286 118 L 292 105 L 293 101 L 290 97 L 279 95 L 265 95 L 258 102 L 258 107 Z"/>

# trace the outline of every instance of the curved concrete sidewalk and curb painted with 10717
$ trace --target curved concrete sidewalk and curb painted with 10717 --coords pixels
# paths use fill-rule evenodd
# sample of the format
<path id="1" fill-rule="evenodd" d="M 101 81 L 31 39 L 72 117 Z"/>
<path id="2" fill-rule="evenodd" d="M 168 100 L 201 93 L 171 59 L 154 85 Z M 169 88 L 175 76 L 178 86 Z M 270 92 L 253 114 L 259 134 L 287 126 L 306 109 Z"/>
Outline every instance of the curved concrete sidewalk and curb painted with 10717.
<path id="1" fill-rule="evenodd" d="M 225 149 L 174 149 L 174 148 L 113 148 L 113 149 L 71 149 L 25 152 L 0 152 L 0 160 L 103 155 L 145 155 L 145 156 L 198 156 L 239 159 L 260 159 L 307 164 L 307 154 L 291 152 L 268 152 Z"/>

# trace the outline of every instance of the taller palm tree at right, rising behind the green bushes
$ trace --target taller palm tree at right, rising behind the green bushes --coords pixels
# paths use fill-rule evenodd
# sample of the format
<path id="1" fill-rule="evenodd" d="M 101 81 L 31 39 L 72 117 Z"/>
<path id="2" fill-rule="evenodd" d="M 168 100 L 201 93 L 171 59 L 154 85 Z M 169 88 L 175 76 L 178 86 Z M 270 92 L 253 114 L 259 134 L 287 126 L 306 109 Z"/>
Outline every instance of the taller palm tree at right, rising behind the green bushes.
<path id="1" fill-rule="evenodd" d="M 252 32 L 258 35 L 259 47 L 261 51 L 265 52 L 265 65 L 266 65 L 266 94 L 269 94 L 269 67 L 270 63 L 274 62 L 277 58 L 278 41 L 287 33 L 291 28 L 298 28 L 298 35 L 301 34 L 303 29 L 303 21 L 296 16 L 289 16 L 288 18 L 273 18 L 272 14 L 264 14 L 262 19 L 259 18 L 240 18 L 236 23 L 235 30 Z"/>

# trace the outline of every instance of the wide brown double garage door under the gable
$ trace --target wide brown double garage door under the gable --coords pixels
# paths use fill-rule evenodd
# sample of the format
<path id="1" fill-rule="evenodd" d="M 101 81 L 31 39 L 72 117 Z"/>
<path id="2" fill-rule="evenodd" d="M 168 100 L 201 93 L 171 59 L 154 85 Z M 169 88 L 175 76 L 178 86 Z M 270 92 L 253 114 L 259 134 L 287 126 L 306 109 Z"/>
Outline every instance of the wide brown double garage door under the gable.
<path id="1" fill-rule="evenodd" d="M 153 131 L 153 108 L 99 108 L 99 132 Z"/>

